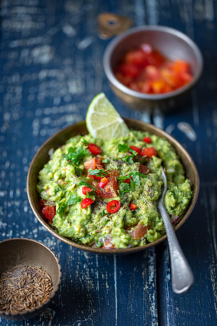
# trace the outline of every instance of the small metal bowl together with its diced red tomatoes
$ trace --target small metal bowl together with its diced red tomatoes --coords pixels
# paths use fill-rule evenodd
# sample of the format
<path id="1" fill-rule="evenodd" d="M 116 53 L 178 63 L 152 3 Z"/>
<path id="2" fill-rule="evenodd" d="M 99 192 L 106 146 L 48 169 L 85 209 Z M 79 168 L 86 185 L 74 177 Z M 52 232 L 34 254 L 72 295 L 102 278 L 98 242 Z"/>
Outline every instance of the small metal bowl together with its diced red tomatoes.
<path id="1" fill-rule="evenodd" d="M 203 56 L 193 40 L 165 26 L 139 26 L 107 46 L 103 67 L 114 93 L 133 109 L 179 106 L 199 80 Z"/>

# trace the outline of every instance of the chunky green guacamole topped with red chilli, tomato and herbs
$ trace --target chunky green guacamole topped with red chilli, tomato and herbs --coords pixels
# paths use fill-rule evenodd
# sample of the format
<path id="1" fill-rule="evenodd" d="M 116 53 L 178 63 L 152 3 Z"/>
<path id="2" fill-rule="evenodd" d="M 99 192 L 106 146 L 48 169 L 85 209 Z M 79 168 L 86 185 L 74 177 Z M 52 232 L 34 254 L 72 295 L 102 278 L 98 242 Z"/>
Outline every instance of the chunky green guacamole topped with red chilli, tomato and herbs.
<path id="1" fill-rule="evenodd" d="M 42 213 L 60 235 L 80 244 L 127 248 L 165 234 L 157 210 L 165 170 L 165 205 L 172 224 L 185 214 L 191 184 L 172 145 L 132 130 L 109 141 L 70 138 L 39 172 Z"/>

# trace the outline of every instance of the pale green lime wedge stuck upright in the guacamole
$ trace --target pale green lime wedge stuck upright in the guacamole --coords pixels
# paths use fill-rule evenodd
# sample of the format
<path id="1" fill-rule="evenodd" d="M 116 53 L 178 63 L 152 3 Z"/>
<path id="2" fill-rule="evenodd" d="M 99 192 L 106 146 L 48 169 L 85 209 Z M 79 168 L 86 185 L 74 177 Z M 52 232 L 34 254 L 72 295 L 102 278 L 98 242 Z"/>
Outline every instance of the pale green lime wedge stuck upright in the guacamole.
<path id="1" fill-rule="evenodd" d="M 104 93 L 94 97 L 86 114 L 86 126 L 94 138 L 109 140 L 126 136 L 129 129 Z"/>

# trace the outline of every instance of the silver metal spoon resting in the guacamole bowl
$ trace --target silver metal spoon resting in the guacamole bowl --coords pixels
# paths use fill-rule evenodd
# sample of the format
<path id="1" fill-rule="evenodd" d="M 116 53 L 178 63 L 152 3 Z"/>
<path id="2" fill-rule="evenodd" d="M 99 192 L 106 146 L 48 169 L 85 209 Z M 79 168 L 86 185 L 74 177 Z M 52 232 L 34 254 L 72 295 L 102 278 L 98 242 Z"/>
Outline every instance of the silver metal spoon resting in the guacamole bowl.
<path id="1" fill-rule="evenodd" d="M 190 290 L 193 286 L 194 275 L 183 251 L 181 250 L 181 246 L 178 242 L 169 215 L 166 211 L 164 197 L 167 190 L 167 179 L 166 174 L 163 170 L 161 176 L 164 181 L 164 189 L 160 197 L 160 201 L 158 202 L 158 209 L 164 221 L 169 245 L 172 289 L 177 294 L 183 294 Z"/>

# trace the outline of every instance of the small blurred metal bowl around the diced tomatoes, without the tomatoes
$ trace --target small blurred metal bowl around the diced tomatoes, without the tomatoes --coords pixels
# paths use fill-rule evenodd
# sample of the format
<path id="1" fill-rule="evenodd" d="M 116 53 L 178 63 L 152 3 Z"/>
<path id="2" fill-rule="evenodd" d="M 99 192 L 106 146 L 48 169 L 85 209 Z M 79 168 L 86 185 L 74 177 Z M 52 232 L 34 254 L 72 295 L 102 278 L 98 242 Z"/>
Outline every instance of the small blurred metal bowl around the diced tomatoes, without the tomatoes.
<path id="1" fill-rule="evenodd" d="M 193 79 L 183 87 L 164 94 L 145 94 L 123 85 L 114 75 L 120 57 L 129 49 L 142 43 L 150 43 L 165 57 L 189 62 Z M 203 71 L 203 57 L 200 49 L 187 35 L 165 26 L 139 26 L 115 37 L 107 46 L 103 56 L 103 67 L 114 93 L 132 109 L 170 110 L 183 103 L 189 90 L 195 85 Z"/>

